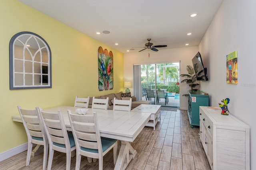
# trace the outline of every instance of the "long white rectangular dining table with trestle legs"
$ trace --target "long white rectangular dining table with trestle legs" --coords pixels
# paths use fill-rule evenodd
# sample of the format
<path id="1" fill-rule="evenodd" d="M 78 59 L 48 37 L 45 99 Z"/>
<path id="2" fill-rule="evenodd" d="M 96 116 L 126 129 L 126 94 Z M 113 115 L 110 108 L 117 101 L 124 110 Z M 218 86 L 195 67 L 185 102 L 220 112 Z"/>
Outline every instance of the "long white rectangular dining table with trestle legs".
<path id="1" fill-rule="evenodd" d="M 53 113 L 61 110 L 66 128 L 71 131 L 67 110 L 71 110 L 72 113 L 77 114 L 76 108 L 81 107 L 57 106 L 43 110 Z M 121 147 L 114 169 L 124 170 L 137 153 L 130 145 L 130 142 L 134 141 L 148 123 L 151 113 L 88 108 L 86 114 L 92 115 L 93 112 L 97 113 L 100 136 L 121 141 Z M 12 120 L 22 122 L 20 115 L 12 116 Z"/>

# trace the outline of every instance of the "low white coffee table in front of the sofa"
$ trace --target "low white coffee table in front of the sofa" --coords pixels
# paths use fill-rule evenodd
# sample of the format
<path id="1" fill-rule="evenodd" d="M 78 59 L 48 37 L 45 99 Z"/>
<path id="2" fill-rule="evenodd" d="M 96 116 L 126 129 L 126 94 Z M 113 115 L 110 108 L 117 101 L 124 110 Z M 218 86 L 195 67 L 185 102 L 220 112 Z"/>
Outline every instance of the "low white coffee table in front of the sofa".
<path id="1" fill-rule="evenodd" d="M 161 119 L 160 107 L 160 105 L 141 104 L 140 106 L 135 107 L 131 111 L 151 113 L 150 120 L 148 121 L 146 126 L 154 127 L 155 130 L 156 123 L 158 122 L 159 119 Z"/>

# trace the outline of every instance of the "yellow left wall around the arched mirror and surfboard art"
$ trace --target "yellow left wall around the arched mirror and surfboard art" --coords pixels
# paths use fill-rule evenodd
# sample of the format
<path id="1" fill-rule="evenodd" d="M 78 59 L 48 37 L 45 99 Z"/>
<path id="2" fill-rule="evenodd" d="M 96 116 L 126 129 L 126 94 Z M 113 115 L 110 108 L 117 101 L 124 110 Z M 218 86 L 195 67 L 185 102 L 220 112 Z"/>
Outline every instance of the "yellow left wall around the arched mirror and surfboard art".
<path id="1" fill-rule="evenodd" d="M 17 106 L 72 106 L 75 96 L 99 96 L 123 91 L 123 53 L 112 49 L 16 1 L 0 5 L 0 152 L 27 142 L 22 123 L 12 121 Z M 86 28 L 84 28 L 86 29 Z M 9 90 L 9 42 L 21 31 L 43 37 L 52 51 L 52 88 Z M 114 55 L 114 89 L 98 91 L 98 47 Z"/>

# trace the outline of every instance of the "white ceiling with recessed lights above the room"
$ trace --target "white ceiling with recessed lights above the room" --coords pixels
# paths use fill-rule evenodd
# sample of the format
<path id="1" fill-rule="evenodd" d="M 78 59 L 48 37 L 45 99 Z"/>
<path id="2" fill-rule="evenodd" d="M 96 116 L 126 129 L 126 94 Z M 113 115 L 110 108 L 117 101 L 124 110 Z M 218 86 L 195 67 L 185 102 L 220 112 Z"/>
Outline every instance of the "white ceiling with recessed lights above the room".
<path id="1" fill-rule="evenodd" d="M 167 45 L 158 50 L 197 46 L 222 3 L 222 0 L 19 1 L 122 53 L 140 51 L 148 38 L 154 45 Z M 198 15 L 191 18 L 192 13 Z M 110 33 L 102 33 L 105 30 Z M 192 35 L 186 35 L 189 32 Z M 126 51 L 132 47 L 140 48 Z"/>

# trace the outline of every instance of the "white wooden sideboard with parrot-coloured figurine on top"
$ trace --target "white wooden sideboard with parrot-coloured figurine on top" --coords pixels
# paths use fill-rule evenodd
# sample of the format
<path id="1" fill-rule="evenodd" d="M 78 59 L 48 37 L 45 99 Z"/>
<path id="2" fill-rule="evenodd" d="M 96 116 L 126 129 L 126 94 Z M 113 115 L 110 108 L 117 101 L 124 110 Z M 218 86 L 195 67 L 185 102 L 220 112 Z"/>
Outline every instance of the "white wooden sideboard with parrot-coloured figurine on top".
<path id="1" fill-rule="evenodd" d="M 250 170 L 250 127 L 221 109 L 200 106 L 199 112 L 200 141 L 212 170 Z"/>

